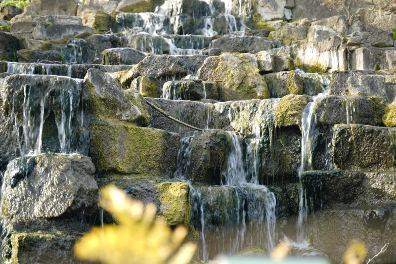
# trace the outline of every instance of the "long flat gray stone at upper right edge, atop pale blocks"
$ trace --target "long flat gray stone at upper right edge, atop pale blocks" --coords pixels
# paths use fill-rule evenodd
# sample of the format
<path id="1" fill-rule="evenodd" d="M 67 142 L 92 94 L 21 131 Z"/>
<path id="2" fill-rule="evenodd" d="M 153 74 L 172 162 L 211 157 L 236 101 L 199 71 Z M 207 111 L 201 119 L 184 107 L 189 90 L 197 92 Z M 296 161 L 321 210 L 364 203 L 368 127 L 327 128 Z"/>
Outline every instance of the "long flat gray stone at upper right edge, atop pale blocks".
<path id="1" fill-rule="evenodd" d="M 387 31 L 354 32 L 346 42 L 347 46 L 358 47 L 393 47 L 393 34 Z"/>

